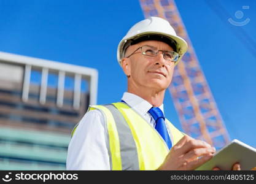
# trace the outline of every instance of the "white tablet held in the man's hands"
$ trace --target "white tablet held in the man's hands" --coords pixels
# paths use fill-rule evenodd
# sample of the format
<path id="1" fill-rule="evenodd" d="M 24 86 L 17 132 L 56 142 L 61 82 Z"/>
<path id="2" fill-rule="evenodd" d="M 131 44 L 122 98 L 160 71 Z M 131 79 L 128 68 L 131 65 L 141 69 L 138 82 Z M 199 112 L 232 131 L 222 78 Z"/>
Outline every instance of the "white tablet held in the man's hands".
<path id="1" fill-rule="evenodd" d="M 241 170 L 255 168 L 256 149 L 234 139 L 230 144 L 216 151 L 209 161 L 196 168 L 196 170 L 212 170 L 213 167 L 219 167 L 222 170 L 231 170 L 235 163 L 240 163 Z"/>

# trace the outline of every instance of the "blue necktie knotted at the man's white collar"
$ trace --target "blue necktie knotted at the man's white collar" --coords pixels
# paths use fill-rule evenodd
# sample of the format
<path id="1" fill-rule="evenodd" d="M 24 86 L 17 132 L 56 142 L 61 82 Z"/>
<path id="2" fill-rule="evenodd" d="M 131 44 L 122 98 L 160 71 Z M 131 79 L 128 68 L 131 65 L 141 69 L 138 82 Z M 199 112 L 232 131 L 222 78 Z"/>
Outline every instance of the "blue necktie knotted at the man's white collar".
<path id="1" fill-rule="evenodd" d="M 149 109 L 149 113 L 155 120 L 155 129 L 157 129 L 158 133 L 163 137 L 168 148 L 171 149 L 171 139 L 165 125 L 165 116 L 163 115 L 163 112 L 158 107 L 152 107 Z"/>

